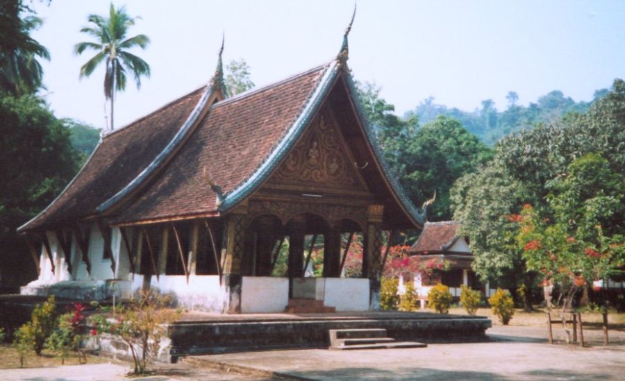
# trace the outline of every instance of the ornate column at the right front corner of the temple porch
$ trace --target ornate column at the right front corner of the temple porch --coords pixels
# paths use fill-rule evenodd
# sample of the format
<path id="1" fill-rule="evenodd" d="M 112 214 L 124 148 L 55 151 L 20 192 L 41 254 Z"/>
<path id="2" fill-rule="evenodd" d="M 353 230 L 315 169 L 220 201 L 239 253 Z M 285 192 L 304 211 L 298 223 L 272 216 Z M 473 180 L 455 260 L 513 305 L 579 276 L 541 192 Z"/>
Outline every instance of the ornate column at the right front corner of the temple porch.
<path id="1" fill-rule="evenodd" d="M 369 278 L 369 310 L 380 310 L 380 282 L 382 276 L 382 218 L 383 205 L 369 205 L 367 210 L 367 231 L 365 234 L 366 266 L 363 264 L 363 276 Z"/>

